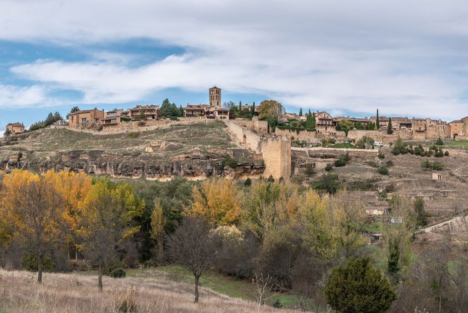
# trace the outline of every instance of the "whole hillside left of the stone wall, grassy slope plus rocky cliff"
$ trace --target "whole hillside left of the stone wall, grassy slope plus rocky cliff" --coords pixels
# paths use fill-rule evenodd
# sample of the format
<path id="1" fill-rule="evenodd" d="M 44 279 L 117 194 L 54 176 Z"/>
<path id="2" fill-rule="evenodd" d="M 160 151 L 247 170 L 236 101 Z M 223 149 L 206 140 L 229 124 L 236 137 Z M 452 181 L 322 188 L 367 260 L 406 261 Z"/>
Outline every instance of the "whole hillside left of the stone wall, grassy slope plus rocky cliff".
<path id="1" fill-rule="evenodd" d="M 12 136 L 0 147 L 0 168 L 79 170 L 117 177 L 188 178 L 255 175 L 261 159 L 231 144 L 222 122 L 179 124 L 128 133 L 85 133 L 44 129 Z M 229 156 L 238 163 L 222 166 Z"/>

